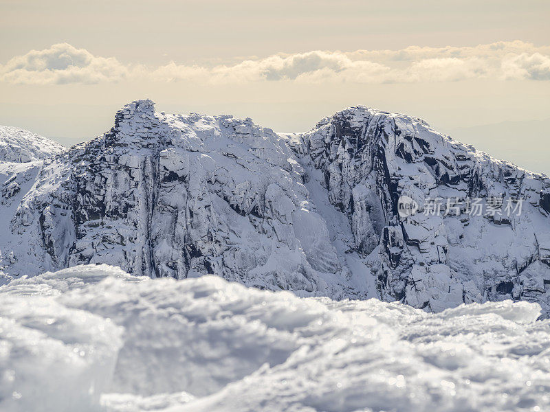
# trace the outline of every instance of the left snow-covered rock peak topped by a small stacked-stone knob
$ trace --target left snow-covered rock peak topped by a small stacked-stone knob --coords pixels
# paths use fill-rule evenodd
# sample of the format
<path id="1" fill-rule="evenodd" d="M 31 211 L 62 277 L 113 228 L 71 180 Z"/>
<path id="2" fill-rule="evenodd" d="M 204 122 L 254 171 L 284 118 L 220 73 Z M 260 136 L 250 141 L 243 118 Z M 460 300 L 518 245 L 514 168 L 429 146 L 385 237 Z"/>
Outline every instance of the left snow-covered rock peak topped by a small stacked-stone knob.
<path id="1" fill-rule="evenodd" d="M 109 133 L 48 162 L 12 197 L 14 236 L 0 251 L 17 261 L 4 259 L 4 271 L 108 263 L 135 275 L 214 274 L 343 297 L 347 274 L 327 230 L 314 245 L 294 231 L 294 218 L 322 224 L 303 180 L 292 149 L 250 119 L 164 115 L 149 100 L 133 102 Z"/>

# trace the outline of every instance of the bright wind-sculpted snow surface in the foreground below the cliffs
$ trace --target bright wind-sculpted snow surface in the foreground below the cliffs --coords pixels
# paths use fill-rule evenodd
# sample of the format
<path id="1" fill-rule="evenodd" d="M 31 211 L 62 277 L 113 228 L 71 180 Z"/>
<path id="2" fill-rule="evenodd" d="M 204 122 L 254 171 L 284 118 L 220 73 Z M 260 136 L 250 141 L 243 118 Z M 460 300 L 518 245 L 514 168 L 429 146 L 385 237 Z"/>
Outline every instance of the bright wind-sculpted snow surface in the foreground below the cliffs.
<path id="1" fill-rule="evenodd" d="M 547 411 L 539 314 L 512 301 L 428 314 L 78 266 L 0 288 L 0 409 Z"/>

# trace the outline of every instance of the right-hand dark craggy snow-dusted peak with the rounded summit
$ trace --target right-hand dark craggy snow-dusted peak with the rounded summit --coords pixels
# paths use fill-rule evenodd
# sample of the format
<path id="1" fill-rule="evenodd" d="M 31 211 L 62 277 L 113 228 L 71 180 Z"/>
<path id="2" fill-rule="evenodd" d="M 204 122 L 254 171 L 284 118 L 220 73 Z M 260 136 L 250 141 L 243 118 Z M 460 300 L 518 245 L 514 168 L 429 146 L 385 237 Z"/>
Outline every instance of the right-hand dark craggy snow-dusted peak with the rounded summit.
<path id="1" fill-rule="evenodd" d="M 542 287 L 550 283 L 542 263 L 550 240 L 546 176 L 476 152 L 421 119 L 362 107 L 323 120 L 303 140 L 325 176 L 331 203 L 351 220 L 358 253 L 379 248 L 382 299 L 441 310 L 513 298 L 538 301 L 548 310 Z M 419 213 L 399 216 L 403 195 L 416 201 Z M 370 202 L 362 205 L 365 198 Z M 430 198 L 452 199 L 459 207 L 447 216 L 426 216 Z M 472 198 L 502 198 L 502 205 L 467 214 Z M 516 198 L 525 200 L 521 213 L 505 213 L 507 205 L 519 207 L 509 202 Z"/>

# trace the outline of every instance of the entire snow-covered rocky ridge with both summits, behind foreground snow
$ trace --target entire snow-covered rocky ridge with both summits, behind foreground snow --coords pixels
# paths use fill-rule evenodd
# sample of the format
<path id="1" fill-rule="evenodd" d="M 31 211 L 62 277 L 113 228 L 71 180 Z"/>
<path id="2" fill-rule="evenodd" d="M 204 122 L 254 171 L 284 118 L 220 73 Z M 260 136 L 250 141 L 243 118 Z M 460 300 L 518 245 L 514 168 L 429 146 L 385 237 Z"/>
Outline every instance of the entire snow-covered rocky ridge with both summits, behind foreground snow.
<path id="1" fill-rule="evenodd" d="M 0 173 L 20 186 L 0 207 L 6 279 L 109 263 L 432 311 L 501 299 L 550 309 L 549 179 L 420 119 L 355 107 L 277 135 L 140 100 L 103 136 Z M 404 195 L 416 214 L 399 215 Z M 424 213 L 426 198 L 500 197 L 480 216 Z M 525 198 L 520 215 L 504 213 L 509 198 Z"/>

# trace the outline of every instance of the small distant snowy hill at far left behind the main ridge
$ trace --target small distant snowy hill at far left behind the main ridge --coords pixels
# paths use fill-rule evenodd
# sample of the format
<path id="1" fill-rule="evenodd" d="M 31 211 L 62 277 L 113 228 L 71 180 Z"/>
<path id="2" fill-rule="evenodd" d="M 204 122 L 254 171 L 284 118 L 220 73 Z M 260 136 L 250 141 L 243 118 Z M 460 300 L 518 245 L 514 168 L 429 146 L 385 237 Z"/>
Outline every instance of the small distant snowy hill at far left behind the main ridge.
<path id="1" fill-rule="evenodd" d="M 0 161 L 23 163 L 67 150 L 56 141 L 18 127 L 0 126 Z"/>

